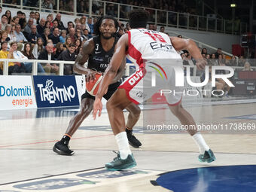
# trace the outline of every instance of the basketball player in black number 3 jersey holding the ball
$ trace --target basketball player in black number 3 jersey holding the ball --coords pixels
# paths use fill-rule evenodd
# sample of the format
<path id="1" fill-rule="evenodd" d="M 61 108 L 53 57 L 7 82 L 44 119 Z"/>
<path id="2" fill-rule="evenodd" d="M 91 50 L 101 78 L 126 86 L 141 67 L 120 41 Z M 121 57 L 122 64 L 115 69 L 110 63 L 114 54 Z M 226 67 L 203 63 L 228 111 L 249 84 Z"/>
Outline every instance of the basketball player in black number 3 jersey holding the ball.
<path id="1" fill-rule="evenodd" d="M 86 81 L 93 81 L 97 72 L 104 73 L 105 69 L 107 69 L 111 57 L 114 54 L 114 46 L 118 40 L 118 38 L 115 37 L 117 27 L 118 23 L 114 17 L 101 17 L 95 24 L 94 32 L 96 36 L 90 38 L 90 40 L 84 43 L 81 52 L 78 54 L 77 59 L 75 60 L 73 70 L 78 74 L 86 75 Z M 85 68 L 84 63 L 87 62 L 87 60 L 88 66 Z M 117 90 L 117 87 L 119 87 L 119 80 L 123 75 L 124 66 L 125 61 L 123 61 L 123 65 L 120 67 L 120 70 L 112 81 L 112 84 L 109 85 L 108 92 L 104 95 L 105 99 L 110 99 L 115 90 Z M 88 117 L 90 112 L 93 110 L 94 99 L 95 96 L 91 96 L 87 92 L 81 96 L 81 109 L 78 114 L 76 114 L 74 117 L 72 117 L 72 120 L 70 120 L 66 134 L 54 145 L 54 152 L 62 155 L 74 154 L 74 151 L 69 149 L 69 140 L 75 131 L 78 130 L 78 127 L 81 125 L 84 119 Z M 133 136 L 132 128 L 139 120 L 140 108 L 135 104 L 131 104 L 127 106 L 126 110 L 130 112 L 126 123 L 128 140 L 130 145 L 135 148 L 139 148 L 139 146 L 142 144 L 138 139 L 136 139 L 135 136 Z"/>

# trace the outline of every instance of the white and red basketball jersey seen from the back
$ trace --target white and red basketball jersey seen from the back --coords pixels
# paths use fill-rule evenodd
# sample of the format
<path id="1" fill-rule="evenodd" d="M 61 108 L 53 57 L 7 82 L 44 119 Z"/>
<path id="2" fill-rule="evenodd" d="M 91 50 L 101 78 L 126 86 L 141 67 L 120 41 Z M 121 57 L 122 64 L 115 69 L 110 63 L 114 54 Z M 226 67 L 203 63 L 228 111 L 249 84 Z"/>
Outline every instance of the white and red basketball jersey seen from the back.
<path id="1" fill-rule="evenodd" d="M 128 38 L 129 47 L 126 56 L 136 63 L 136 68 L 142 67 L 144 59 L 181 59 L 165 33 L 148 29 L 131 29 Z"/>

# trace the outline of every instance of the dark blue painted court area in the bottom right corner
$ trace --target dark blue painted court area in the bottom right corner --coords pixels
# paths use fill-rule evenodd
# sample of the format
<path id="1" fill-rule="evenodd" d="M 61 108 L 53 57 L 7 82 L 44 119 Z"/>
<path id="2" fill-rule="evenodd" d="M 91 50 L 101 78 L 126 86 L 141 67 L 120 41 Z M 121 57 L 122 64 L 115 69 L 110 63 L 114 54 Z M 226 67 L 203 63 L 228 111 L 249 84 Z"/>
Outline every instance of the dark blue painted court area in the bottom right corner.
<path id="1" fill-rule="evenodd" d="M 161 174 L 157 184 L 174 192 L 253 192 L 256 166 L 212 166 Z"/>

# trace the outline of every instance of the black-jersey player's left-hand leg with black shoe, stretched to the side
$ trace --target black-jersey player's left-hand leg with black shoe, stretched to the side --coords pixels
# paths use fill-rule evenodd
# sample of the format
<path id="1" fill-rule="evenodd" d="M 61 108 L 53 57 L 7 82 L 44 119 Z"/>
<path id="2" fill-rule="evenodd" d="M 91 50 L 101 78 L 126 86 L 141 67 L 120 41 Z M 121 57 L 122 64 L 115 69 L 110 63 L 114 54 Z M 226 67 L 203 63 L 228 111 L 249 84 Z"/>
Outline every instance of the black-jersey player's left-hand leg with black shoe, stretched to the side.
<path id="1" fill-rule="evenodd" d="M 78 130 L 78 127 L 81 125 L 84 119 L 88 117 L 90 112 L 93 110 L 93 102 L 94 99 L 90 98 L 90 96 L 81 100 L 80 111 L 77 114 L 75 114 L 75 116 L 72 117 L 72 119 L 69 121 L 69 126 L 66 130 L 66 134 L 62 136 L 62 139 L 59 142 L 56 142 L 56 144 L 53 147 L 54 152 L 62 155 L 74 154 L 74 151 L 69 149 L 69 140 L 76 132 L 76 130 Z"/>

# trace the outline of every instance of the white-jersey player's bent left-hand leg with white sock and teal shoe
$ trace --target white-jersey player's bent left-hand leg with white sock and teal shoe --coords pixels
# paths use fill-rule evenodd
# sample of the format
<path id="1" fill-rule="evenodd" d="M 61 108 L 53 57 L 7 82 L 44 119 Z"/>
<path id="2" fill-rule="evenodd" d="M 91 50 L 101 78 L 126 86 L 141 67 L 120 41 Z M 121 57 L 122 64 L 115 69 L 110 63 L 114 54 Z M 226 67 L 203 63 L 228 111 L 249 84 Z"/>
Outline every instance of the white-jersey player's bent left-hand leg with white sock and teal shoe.
<path id="1" fill-rule="evenodd" d="M 123 116 L 123 109 L 131 103 L 123 89 L 118 89 L 107 102 L 108 118 L 119 149 L 117 157 L 110 163 L 105 164 L 107 169 L 121 170 L 136 166 L 136 161 L 130 151 Z"/>

